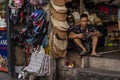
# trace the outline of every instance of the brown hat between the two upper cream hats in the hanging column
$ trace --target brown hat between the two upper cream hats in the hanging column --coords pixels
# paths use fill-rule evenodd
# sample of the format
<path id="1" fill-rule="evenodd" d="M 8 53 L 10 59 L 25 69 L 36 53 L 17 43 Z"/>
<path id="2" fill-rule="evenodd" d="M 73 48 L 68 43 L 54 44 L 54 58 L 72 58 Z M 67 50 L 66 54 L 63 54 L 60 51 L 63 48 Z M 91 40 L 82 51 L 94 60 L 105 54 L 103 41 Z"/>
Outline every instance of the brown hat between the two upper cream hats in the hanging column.
<path id="1" fill-rule="evenodd" d="M 67 15 L 65 13 L 58 13 L 55 9 L 51 9 L 51 13 L 58 21 L 66 21 Z"/>

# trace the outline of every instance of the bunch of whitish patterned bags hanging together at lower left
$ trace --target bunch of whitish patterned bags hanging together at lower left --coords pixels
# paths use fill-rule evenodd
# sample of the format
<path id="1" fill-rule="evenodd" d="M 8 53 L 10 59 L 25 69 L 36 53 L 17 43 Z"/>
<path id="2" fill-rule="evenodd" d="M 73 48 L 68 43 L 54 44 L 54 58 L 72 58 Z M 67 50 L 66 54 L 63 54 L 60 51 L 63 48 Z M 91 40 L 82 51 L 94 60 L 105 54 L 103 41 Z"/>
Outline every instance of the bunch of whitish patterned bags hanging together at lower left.
<path id="1" fill-rule="evenodd" d="M 49 73 L 50 57 L 45 54 L 44 48 L 32 53 L 27 71 L 37 76 L 46 76 Z"/>

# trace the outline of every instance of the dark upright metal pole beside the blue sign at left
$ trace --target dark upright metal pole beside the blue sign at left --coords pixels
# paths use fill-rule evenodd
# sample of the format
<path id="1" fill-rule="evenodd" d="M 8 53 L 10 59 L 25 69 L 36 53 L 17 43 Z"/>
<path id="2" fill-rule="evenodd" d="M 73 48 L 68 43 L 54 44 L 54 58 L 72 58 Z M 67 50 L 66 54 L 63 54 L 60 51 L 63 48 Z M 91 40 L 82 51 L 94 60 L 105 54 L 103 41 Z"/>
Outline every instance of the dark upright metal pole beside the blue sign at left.
<path id="1" fill-rule="evenodd" d="M 9 74 L 9 80 L 13 80 L 12 78 L 14 77 L 15 73 L 15 68 L 14 68 L 14 56 L 13 56 L 13 45 L 11 41 L 11 30 L 12 30 L 12 25 L 10 23 L 10 8 L 8 6 L 9 1 L 5 0 L 5 5 L 6 5 L 6 23 L 7 23 L 7 53 L 8 53 L 8 74 Z"/>

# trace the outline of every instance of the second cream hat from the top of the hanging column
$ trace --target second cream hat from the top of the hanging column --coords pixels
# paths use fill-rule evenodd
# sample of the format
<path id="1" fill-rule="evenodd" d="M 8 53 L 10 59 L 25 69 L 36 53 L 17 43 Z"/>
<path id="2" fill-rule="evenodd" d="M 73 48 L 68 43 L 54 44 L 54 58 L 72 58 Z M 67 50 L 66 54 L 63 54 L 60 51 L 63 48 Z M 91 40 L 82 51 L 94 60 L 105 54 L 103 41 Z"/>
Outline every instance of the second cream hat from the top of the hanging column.
<path id="1" fill-rule="evenodd" d="M 51 16 L 51 21 L 54 27 L 56 27 L 60 31 L 67 31 L 69 28 L 69 25 L 67 21 L 58 21 Z"/>

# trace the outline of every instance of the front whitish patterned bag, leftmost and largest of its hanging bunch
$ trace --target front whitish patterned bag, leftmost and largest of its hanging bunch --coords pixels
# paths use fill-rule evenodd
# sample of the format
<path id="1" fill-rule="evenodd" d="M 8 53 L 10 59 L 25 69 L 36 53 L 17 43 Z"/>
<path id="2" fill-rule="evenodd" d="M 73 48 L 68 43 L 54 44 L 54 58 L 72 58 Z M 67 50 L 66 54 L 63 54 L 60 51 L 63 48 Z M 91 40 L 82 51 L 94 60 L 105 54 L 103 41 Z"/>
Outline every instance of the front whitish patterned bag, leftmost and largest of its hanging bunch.
<path id="1" fill-rule="evenodd" d="M 30 73 L 37 73 L 39 74 L 40 70 L 42 70 L 43 62 L 45 59 L 45 51 L 43 47 L 40 50 L 36 50 L 32 52 L 30 63 L 28 65 L 27 71 Z"/>

